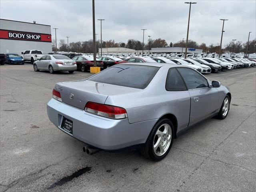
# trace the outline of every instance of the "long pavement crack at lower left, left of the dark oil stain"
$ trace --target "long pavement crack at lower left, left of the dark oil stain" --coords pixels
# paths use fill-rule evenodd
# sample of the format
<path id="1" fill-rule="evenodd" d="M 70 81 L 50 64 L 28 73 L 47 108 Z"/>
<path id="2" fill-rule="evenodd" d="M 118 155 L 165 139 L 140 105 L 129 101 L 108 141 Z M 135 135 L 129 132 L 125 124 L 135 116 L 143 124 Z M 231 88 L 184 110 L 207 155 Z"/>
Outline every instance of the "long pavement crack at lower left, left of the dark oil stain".
<path id="1" fill-rule="evenodd" d="M 77 155 L 77 154 L 80 154 L 80 153 L 82 153 L 82 152 L 79 152 L 79 153 L 76 153 L 76 154 L 72 154 L 72 155 L 70 155 L 70 156 L 74 156 L 74 155 Z M 54 163 L 54 164 L 50 164 L 50 165 L 46 166 L 45 168 L 42 168 L 42 169 L 38 170 L 37 172 L 30 173 L 30 174 L 28 174 L 28 175 L 23 176 L 22 178 L 19 178 L 19 179 L 17 179 L 17 180 L 14 180 L 13 182 L 11 182 L 11 183 L 8 184 L 8 185 L 0 184 L 0 185 L 2 185 L 2 186 L 6 186 L 6 187 L 7 187 L 3 192 L 6 192 L 8 189 L 10 189 L 10 188 L 12 188 L 13 186 L 15 186 L 16 184 L 18 184 L 18 183 L 20 182 L 20 180 L 24 180 L 24 178 L 28 178 L 28 177 L 30 177 L 30 176 L 33 176 L 33 175 L 36 175 L 36 174 L 40 174 L 41 172 L 43 172 L 43 171 L 46 170 L 47 168 L 49 168 L 49 167 L 51 167 L 51 166 L 55 166 L 55 165 L 59 164 L 60 162 L 66 160 L 66 159 L 68 159 L 68 158 L 70 158 L 70 156 L 68 156 L 68 157 L 66 157 L 66 158 L 64 158 L 64 159 L 62 159 L 62 160 L 60 160 L 59 162 L 56 162 L 56 163 Z M 34 177 L 33 180 L 36 180 L 36 179 L 38 179 L 38 178 L 40 178 L 40 177 L 41 177 L 41 176 Z M 32 181 L 32 180 L 30 180 L 30 181 Z"/>

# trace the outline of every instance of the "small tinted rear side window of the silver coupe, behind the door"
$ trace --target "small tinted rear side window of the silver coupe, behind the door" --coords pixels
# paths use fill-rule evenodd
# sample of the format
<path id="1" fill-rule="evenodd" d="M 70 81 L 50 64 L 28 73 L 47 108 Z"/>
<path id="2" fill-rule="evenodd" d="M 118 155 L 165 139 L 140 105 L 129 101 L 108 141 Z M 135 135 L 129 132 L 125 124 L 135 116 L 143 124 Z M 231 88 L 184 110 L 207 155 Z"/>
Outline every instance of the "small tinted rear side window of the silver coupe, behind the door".
<path id="1" fill-rule="evenodd" d="M 170 68 L 166 78 L 165 88 L 167 91 L 184 91 L 187 90 L 179 72 L 176 68 Z"/>

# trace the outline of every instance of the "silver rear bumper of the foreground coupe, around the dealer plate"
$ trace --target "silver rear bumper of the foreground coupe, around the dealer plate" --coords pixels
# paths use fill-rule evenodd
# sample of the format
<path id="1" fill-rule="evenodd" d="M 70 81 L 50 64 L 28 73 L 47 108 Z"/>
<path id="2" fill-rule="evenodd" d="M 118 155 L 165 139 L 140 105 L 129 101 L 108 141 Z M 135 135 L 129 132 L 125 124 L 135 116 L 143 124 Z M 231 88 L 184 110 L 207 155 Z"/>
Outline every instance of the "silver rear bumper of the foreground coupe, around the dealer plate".
<path id="1" fill-rule="evenodd" d="M 70 136 L 103 150 L 119 150 L 145 143 L 158 119 L 130 124 L 128 119 L 114 120 L 85 112 L 68 104 L 51 99 L 47 104 L 50 121 L 60 130 L 62 117 L 73 121 Z"/>

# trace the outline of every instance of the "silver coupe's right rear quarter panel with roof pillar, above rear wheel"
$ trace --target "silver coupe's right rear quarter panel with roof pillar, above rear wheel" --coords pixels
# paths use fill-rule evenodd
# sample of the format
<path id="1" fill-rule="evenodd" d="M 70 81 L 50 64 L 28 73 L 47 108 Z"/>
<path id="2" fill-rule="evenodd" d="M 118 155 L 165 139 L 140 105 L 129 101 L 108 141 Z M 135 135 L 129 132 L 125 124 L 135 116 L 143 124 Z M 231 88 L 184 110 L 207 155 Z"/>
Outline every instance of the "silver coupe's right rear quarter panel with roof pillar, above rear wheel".
<path id="1" fill-rule="evenodd" d="M 105 104 L 126 109 L 129 123 L 159 119 L 165 114 L 177 118 L 178 130 L 188 126 L 190 95 L 188 91 L 166 91 L 169 68 L 160 68 L 147 88 L 130 94 L 108 96 Z"/>

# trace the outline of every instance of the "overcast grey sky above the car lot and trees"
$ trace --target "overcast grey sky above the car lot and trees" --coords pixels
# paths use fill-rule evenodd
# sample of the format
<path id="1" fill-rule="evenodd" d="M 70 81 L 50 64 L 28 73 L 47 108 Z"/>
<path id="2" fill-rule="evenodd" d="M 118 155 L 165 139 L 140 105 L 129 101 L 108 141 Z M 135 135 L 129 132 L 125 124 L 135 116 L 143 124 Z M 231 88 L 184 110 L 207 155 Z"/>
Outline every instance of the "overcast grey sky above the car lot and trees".
<path id="1" fill-rule="evenodd" d="M 95 18 L 102 21 L 102 40 L 142 41 L 146 28 L 153 39 L 168 44 L 186 39 L 189 4 L 182 0 L 95 0 Z M 195 0 L 190 16 L 189 39 L 199 44 L 220 43 L 222 21 L 223 44 L 232 39 L 246 42 L 256 38 L 256 0 Z M 57 42 L 70 36 L 69 42 L 92 39 L 92 0 L 0 0 L 0 18 L 51 25 L 57 30 Z M 96 20 L 97 39 L 100 21 Z M 52 38 L 55 38 L 52 29 Z"/>

